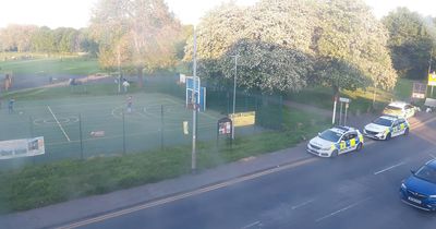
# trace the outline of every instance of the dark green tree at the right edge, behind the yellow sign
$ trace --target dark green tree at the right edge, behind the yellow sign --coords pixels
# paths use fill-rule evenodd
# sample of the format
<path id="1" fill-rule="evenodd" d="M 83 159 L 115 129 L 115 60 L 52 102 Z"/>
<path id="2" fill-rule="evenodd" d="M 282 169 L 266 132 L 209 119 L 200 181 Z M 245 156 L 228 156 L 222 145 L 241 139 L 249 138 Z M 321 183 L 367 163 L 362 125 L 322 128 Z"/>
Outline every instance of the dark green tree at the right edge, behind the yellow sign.
<path id="1" fill-rule="evenodd" d="M 388 47 L 400 76 L 425 79 L 436 39 L 433 20 L 407 8 L 397 8 L 382 22 L 389 31 Z"/>

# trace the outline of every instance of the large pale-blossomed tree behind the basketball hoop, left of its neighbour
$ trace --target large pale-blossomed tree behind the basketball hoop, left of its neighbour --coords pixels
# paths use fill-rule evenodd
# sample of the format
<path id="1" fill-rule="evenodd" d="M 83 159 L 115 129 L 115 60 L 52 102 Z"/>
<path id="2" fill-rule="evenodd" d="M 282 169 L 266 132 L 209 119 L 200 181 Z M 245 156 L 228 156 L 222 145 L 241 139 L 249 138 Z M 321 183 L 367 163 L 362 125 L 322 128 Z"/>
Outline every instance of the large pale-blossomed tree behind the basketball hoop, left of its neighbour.
<path id="1" fill-rule="evenodd" d="M 304 40 L 294 39 L 310 32 L 295 29 L 298 34 L 289 35 L 293 34 L 292 20 L 302 19 L 294 8 L 299 3 L 283 1 L 281 7 L 271 8 L 270 2 L 263 1 L 255 8 L 240 8 L 231 2 L 209 12 L 197 27 L 201 76 L 230 82 L 227 80 L 234 76 L 231 56 L 238 55 L 238 85 L 269 93 L 301 89 L 313 63 L 307 47 L 299 45 Z M 289 11 L 291 13 L 283 17 Z M 191 59 L 192 40 L 186 46 L 185 57 L 185 60 Z"/>

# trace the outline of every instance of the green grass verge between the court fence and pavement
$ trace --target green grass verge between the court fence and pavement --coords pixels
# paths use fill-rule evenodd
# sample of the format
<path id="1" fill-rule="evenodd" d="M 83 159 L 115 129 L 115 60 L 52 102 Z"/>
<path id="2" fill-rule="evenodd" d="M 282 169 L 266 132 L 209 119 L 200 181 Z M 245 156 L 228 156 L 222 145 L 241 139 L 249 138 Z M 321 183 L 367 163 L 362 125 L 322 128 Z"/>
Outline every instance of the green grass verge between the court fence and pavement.
<path id="1" fill-rule="evenodd" d="M 327 120 L 299 110 L 284 111 L 286 129 L 240 136 L 229 147 L 225 141 L 198 143 L 198 168 L 204 170 L 294 146 L 328 126 Z M 191 146 L 126 156 L 64 160 L 0 172 L 0 213 L 32 209 L 77 197 L 108 193 L 186 174 Z"/>

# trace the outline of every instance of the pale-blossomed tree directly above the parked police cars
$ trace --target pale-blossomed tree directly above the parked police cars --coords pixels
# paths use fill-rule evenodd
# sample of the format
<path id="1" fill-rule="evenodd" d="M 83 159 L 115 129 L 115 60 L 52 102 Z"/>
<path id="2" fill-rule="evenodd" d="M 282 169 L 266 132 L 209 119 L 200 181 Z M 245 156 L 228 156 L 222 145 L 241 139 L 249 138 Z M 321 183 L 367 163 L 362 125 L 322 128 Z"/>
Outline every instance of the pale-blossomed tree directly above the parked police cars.
<path id="1" fill-rule="evenodd" d="M 355 89 L 392 88 L 397 74 L 387 49 L 387 31 L 361 0 L 319 1 L 312 36 L 317 82 Z"/>

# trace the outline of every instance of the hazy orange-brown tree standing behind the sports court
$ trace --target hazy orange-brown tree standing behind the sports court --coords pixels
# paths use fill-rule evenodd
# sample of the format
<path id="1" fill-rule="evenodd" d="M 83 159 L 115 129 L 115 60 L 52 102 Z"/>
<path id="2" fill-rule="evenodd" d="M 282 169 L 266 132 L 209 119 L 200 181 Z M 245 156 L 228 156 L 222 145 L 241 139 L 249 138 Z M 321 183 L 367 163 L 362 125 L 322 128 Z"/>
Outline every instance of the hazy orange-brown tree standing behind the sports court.
<path id="1" fill-rule="evenodd" d="M 175 62 L 175 43 L 181 25 L 164 0 L 100 0 L 90 20 L 105 68 L 153 72 Z"/>

